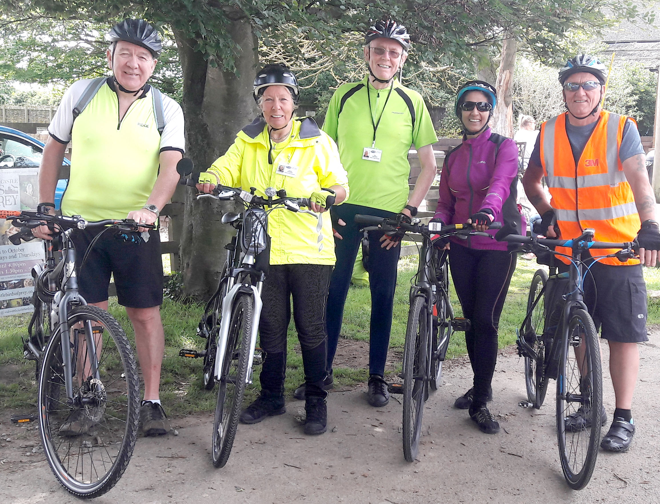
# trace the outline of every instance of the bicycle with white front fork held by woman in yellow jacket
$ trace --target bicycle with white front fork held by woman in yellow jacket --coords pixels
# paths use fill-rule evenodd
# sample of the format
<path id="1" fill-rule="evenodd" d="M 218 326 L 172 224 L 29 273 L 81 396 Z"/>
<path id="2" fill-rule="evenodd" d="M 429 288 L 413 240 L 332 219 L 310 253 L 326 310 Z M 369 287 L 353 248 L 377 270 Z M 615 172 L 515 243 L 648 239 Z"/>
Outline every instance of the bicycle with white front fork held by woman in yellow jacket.
<path id="1" fill-rule="evenodd" d="M 190 169 L 178 167 L 183 176 L 188 175 Z M 182 183 L 194 186 L 198 178 L 199 173 L 183 179 Z M 255 191 L 254 187 L 248 192 L 218 185 L 210 194 L 197 195 L 197 199 L 235 200 L 245 207 L 241 213 L 226 212 L 220 218 L 222 224 L 230 224 L 238 232 L 225 247 L 227 260 L 218 288 L 207 303 L 197 329 L 197 334 L 206 339 L 206 348 L 203 352 L 189 349 L 180 352 L 183 357 L 204 358 L 206 389 L 213 389 L 213 384 L 218 383 L 211 446 L 216 467 L 224 467 L 229 459 L 245 387 L 252 383 L 262 307 L 261 288 L 266 277 L 263 266 L 269 264 L 268 216 L 273 210 L 285 208 L 314 216 L 319 220 L 319 230 L 322 223 L 320 215 L 301 208 L 310 206 L 308 198 L 286 197 L 284 189 L 277 191 L 273 187 L 265 190 L 266 198 L 255 195 Z M 332 203 L 334 197 L 328 197 L 327 208 Z"/>

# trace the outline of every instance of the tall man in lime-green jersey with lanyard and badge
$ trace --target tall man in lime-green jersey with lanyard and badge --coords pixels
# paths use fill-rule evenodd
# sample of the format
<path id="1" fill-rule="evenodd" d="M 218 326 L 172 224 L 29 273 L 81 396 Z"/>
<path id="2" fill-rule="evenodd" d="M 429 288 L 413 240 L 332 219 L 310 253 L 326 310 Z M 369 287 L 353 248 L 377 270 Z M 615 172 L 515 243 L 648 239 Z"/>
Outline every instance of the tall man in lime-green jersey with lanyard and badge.
<path id="1" fill-rule="evenodd" d="M 328 353 L 325 386 L 332 384 L 332 362 L 337 350 L 344 303 L 355 257 L 360 247 L 356 214 L 409 220 L 417 213 L 435 175 L 432 144 L 438 141 L 424 100 L 396 79 L 410 49 L 404 26 L 388 19 L 374 24 L 365 37 L 364 60 L 369 74 L 360 82 L 343 84 L 330 100 L 323 131 L 339 147 L 348 173 L 347 203 L 331 208 L 337 263 L 327 299 Z M 422 172 L 409 197 L 408 151 L 414 144 Z M 394 290 L 399 261 L 399 236 L 370 233 L 368 262 L 372 314 L 370 323 L 368 402 L 384 406 L 389 401 L 383 380 L 392 324 Z M 296 390 L 300 396 L 302 387 Z"/>

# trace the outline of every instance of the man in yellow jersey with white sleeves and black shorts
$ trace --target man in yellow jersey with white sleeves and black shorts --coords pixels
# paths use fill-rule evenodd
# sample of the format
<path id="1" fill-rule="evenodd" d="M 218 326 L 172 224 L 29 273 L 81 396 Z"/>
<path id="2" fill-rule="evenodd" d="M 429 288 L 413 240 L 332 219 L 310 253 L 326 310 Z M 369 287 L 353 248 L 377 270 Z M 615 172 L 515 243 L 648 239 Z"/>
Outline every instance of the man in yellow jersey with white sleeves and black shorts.
<path id="1" fill-rule="evenodd" d="M 48 127 L 39 173 L 40 203 L 54 211 L 55 185 L 67 144 L 72 142 L 71 175 L 62 198 L 62 213 L 87 220 L 129 218 L 154 224 L 179 180 L 176 164 L 184 152 L 183 112 L 179 104 L 147 84 L 162 48 L 156 30 L 144 20 L 127 19 L 110 31 L 107 51 L 112 77 L 79 80 L 65 93 Z M 86 106 L 82 96 L 98 83 Z M 82 110 L 80 110 L 82 108 Z M 162 113 L 161 113 L 162 111 Z M 158 230 L 139 228 L 122 241 L 112 232 L 77 230 L 77 270 L 82 296 L 108 309 L 108 284 L 114 276 L 119 304 L 126 307 L 135 330 L 137 356 L 145 379 L 140 420 L 146 435 L 166 434 L 160 405 L 160 367 L 164 331 L 160 319 L 162 260 Z M 35 235 L 49 239 L 46 226 Z M 59 430 L 77 435 L 92 427 L 81 410 Z"/>

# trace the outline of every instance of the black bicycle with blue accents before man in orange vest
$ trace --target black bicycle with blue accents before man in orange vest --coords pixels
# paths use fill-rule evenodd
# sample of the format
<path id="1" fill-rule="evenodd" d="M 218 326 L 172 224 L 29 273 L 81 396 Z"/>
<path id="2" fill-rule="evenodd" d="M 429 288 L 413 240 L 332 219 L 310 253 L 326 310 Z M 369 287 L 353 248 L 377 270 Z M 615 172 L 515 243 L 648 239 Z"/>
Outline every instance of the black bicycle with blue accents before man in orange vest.
<path id="1" fill-rule="evenodd" d="M 537 256 L 543 253 L 570 259 L 568 272 L 551 267 L 548 275 L 538 270 L 527 298 L 527 314 L 517 332 L 518 354 L 525 358 L 525 385 L 529 401 L 525 408 L 541 408 L 548 379 L 556 379 L 557 440 L 562 471 L 568 486 L 584 488 L 591 479 L 601 438 L 603 375 L 598 334 L 583 302 L 583 282 L 589 268 L 605 257 L 622 263 L 636 257 L 636 243 L 593 241 L 594 230 L 587 229 L 576 239 L 546 239 L 509 235 L 503 241 L 523 243 L 523 249 Z M 571 255 L 550 247 L 570 247 Z M 620 249 L 605 256 L 581 259 L 594 249 Z M 587 263 L 587 264 L 585 264 Z M 560 294 L 547 299 L 548 290 Z M 565 293 L 565 294 L 562 294 Z M 584 422 L 575 422 L 585 418 Z M 575 424 L 578 423 L 576 426 Z"/>

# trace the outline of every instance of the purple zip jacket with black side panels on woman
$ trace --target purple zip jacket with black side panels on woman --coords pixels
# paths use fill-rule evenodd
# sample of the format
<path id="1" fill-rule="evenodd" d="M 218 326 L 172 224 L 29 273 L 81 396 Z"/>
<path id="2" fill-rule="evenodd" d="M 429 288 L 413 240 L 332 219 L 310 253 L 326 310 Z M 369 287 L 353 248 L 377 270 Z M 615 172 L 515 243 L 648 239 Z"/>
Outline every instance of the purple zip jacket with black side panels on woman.
<path id="1" fill-rule="evenodd" d="M 434 217 L 445 224 L 462 224 L 480 210 L 489 209 L 502 222 L 502 233 L 525 236 L 527 225 L 516 203 L 518 148 L 512 139 L 486 129 L 475 139 L 463 137 L 463 143 L 447 154 L 440 176 L 440 197 Z M 488 231 L 493 236 L 497 230 Z M 517 248 L 506 241 L 483 236 L 451 241 L 482 250 Z"/>

